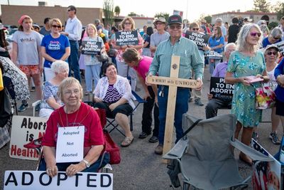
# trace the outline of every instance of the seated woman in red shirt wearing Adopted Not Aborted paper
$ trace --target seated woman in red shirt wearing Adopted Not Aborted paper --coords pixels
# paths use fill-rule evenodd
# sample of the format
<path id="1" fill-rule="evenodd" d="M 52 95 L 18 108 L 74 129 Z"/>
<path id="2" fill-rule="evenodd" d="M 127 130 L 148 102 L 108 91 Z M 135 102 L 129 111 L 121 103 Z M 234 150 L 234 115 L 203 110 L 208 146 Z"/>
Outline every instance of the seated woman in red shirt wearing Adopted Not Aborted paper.
<path id="1" fill-rule="evenodd" d="M 99 166 L 103 167 L 109 162 L 109 154 L 104 154 L 101 164 L 102 156 L 100 155 L 104 149 L 104 134 L 97 112 L 82 102 L 82 86 L 75 78 L 66 78 L 62 81 L 58 87 L 58 96 L 65 105 L 55 110 L 49 117 L 42 142 L 45 162 L 40 164 L 39 170 L 46 170 L 49 176 L 55 176 L 58 171 L 66 171 L 68 176 L 73 176 L 80 171 L 97 172 Z M 80 161 L 56 163 L 58 157 L 55 159 L 55 152 L 67 146 L 67 144 L 57 144 L 62 138 L 59 132 L 62 130 L 60 127 L 64 129 L 84 127 L 84 137 L 82 137 L 84 138 L 84 157 Z"/>

